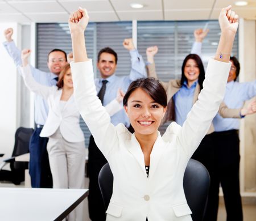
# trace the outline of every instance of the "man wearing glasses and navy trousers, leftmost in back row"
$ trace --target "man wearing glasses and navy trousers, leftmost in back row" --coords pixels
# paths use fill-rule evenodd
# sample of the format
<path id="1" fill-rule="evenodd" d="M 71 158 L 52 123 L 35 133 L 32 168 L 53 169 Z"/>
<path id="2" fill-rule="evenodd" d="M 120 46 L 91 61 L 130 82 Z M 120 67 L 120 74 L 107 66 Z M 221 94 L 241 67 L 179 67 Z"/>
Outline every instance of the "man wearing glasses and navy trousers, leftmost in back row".
<path id="1" fill-rule="evenodd" d="M 4 32 L 6 41 L 3 42 L 10 57 L 13 58 L 15 65 L 22 65 L 20 50 L 16 47 L 13 39 L 13 28 L 8 28 Z M 40 71 L 30 66 L 31 73 L 35 80 L 46 86 L 56 85 L 58 75 L 67 64 L 67 54 L 60 49 L 53 49 L 48 54 L 47 66 L 49 72 Z M 35 131 L 30 139 L 30 176 L 33 188 L 52 188 L 52 176 L 49 168 L 48 153 L 46 150 L 48 138 L 40 137 L 48 115 L 47 101 L 35 95 Z"/>

